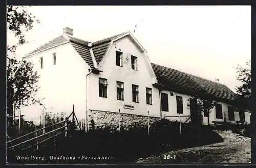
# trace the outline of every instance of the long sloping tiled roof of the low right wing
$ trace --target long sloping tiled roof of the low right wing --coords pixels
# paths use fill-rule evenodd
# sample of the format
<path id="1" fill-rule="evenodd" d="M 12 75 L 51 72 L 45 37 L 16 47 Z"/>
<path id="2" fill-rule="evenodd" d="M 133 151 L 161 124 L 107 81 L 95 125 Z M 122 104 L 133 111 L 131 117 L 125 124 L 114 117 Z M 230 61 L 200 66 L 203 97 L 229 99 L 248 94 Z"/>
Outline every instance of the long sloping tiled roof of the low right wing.
<path id="1" fill-rule="evenodd" d="M 234 100 L 234 92 L 221 83 L 152 63 L 158 82 L 167 90 L 195 96 L 204 91 L 213 97 Z"/>

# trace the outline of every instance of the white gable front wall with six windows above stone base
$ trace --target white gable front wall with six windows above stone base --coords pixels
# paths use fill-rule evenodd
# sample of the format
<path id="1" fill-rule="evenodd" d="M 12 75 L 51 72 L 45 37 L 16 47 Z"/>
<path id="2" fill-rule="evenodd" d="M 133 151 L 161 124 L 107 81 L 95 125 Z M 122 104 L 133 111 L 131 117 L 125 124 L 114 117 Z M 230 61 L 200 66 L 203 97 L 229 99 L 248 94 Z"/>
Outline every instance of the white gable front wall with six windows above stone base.
<path id="1" fill-rule="evenodd" d="M 116 45 L 115 45 L 116 44 Z M 123 67 L 116 65 L 116 48 L 123 52 Z M 138 59 L 138 71 L 131 67 L 131 55 Z M 90 75 L 89 109 L 113 111 L 131 114 L 147 114 L 160 117 L 159 92 L 152 86 L 152 74 L 148 71 L 145 55 L 140 52 L 129 37 L 114 42 L 105 55 L 100 69 L 103 72 Z M 108 79 L 108 98 L 99 97 L 99 77 Z M 116 81 L 124 82 L 124 100 L 117 100 Z M 132 84 L 139 86 L 139 103 L 132 101 Z M 152 104 L 146 104 L 146 87 L 152 88 Z M 124 104 L 133 105 L 134 109 L 123 108 Z"/>

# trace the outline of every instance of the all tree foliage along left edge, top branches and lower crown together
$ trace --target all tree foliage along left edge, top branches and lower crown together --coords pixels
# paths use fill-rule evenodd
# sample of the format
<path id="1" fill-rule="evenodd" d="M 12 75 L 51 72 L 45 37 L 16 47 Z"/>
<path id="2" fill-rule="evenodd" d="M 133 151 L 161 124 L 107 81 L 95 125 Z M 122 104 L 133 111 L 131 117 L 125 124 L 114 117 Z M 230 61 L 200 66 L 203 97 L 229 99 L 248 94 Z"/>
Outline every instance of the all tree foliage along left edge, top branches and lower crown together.
<path id="1" fill-rule="evenodd" d="M 25 60 L 9 58 L 17 46 L 27 42 L 24 31 L 29 31 L 33 23 L 39 21 L 24 6 L 7 6 L 7 31 L 14 33 L 18 42 L 7 45 L 7 113 L 13 113 L 20 106 L 40 103 L 34 96 L 39 87 L 36 85 L 39 75 L 33 70 L 33 64 Z"/>

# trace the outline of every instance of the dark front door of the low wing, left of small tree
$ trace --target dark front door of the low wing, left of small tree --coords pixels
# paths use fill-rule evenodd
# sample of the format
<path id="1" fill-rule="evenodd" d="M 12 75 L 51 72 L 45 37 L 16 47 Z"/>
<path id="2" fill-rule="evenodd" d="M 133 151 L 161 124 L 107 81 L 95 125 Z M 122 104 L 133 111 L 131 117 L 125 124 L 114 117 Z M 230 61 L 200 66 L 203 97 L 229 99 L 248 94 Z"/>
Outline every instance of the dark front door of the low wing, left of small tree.
<path id="1" fill-rule="evenodd" d="M 197 99 L 189 99 L 190 103 L 190 115 L 191 115 L 191 122 L 195 125 L 201 125 L 201 114 L 198 113 L 197 108 Z"/>

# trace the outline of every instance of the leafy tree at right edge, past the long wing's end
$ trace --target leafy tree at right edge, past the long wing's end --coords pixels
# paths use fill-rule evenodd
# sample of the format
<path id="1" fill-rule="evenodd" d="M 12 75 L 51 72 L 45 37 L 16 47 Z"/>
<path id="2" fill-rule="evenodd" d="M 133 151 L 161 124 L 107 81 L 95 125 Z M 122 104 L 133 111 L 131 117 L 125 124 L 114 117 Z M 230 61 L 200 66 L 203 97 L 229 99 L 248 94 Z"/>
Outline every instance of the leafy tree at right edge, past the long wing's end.
<path id="1" fill-rule="evenodd" d="M 238 65 L 237 74 L 237 80 L 242 82 L 242 85 L 236 88 L 238 109 L 251 113 L 251 61 L 248 60 L 246 66 Z"/>

